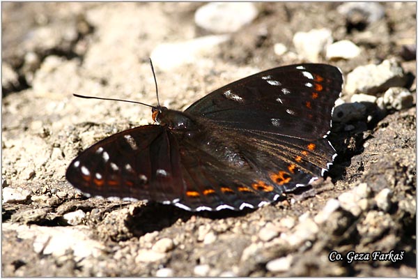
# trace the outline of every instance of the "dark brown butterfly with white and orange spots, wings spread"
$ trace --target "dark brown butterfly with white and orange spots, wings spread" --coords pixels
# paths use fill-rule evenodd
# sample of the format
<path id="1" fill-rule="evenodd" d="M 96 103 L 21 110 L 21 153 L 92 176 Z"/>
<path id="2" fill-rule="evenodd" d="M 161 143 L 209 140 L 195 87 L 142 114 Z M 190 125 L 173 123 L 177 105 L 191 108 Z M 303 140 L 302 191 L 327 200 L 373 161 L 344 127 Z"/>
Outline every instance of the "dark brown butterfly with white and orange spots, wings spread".
<path id="1" fill-rule="evenodd" d="M 93 144 L 66 179 L 87 195 L 187 211 L 256 209 L 332 165 L 326 137 L 342 84 L 339 68 L 304 63 L 227 84 L 184 112 L 150 106 L 157 125 Z"/>

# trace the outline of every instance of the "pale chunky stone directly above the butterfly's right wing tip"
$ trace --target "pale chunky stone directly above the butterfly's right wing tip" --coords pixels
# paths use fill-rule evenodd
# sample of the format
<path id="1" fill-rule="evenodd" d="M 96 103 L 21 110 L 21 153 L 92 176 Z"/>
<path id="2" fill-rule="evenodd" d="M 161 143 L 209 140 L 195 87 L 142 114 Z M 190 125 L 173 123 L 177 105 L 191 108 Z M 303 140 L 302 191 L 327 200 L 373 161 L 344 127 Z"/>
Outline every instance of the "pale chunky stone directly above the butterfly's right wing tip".
<path id="1" fill-rule="evenodd" d="M 312 29 L 309 32 L 297 32 L 293 36 L 293 45 L 297 53 L 310 62 L 318 62 L 319 54 L 332 43 L 329 29 Z"/>

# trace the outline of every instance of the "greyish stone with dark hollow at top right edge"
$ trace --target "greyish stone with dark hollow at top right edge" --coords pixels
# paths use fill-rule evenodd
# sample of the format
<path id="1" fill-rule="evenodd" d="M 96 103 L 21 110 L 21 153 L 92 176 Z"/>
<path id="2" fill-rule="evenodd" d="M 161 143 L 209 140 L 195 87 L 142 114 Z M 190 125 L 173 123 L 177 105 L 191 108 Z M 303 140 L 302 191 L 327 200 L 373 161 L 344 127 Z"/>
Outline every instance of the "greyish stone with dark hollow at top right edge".
<path id="1" fill-rule="evenodd" d="M 342 15 L 350 18 L 356 17 L 355 14 L 362 17 L 367 23 L 372 23 L 380 20 L 385 16 L 385 8 L 380 3 L 375 2 L 348 2 L 341 4 L 336 10 Z M 357 17 L 358 18 L 358 17 Z M 356 20 L 359 21 L 359 20 Z"/>

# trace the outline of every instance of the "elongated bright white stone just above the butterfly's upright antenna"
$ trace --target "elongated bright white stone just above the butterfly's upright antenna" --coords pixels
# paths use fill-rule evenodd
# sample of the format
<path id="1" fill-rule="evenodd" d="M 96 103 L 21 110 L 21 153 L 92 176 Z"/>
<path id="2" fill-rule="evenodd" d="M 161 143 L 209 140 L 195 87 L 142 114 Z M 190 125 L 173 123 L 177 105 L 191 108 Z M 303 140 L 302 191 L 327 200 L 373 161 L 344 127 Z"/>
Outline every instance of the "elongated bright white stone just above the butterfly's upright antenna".
<path id="1" fill-rule="evenodd" d="M 215 47 L 229 39 L 228 35 L 204 36 L 178 43 L 162 43 L 151 52 L 155 68 L 173 70 L 196 62 L 214 52 Z"/>

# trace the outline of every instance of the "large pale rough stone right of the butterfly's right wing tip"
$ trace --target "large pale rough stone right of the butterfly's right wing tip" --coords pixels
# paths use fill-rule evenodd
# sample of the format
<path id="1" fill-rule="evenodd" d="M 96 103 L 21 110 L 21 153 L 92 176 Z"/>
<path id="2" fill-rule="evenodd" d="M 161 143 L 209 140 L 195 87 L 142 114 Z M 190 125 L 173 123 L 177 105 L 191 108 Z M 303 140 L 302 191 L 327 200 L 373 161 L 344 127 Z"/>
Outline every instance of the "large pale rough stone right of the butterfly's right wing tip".
<path id="1" fill-rule="evenodd" d="M 394 86 L 405 86 L 408 77 L 394 59 L 385 60 L 379 65 L 359 66 L 347 75 L 346 93 L 369 93 L 376 95 Z"/>

